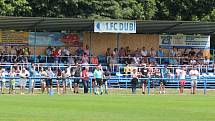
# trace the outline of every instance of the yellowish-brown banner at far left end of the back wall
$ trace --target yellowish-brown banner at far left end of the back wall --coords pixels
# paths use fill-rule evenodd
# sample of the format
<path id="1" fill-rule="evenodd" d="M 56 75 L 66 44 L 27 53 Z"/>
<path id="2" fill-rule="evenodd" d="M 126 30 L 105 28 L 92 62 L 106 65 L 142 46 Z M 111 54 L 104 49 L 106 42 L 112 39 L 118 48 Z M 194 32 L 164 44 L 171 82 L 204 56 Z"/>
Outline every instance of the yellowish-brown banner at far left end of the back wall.
<path id="1" fill-rule="evenodd" d="M 28 45 L 28 32 L 0 31 L 0 45 Z"/>

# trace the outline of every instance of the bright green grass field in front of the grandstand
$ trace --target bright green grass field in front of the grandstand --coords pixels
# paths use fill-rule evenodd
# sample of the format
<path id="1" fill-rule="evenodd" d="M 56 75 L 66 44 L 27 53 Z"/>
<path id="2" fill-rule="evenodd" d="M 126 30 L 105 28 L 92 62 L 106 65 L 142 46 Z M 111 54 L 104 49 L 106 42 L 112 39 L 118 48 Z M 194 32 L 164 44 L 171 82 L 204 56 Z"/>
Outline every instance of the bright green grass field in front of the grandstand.
<path id="1" fill-rule="evenodd" d="M 0 95 L 2 121 L 215 121 L 215 96 Z"/>

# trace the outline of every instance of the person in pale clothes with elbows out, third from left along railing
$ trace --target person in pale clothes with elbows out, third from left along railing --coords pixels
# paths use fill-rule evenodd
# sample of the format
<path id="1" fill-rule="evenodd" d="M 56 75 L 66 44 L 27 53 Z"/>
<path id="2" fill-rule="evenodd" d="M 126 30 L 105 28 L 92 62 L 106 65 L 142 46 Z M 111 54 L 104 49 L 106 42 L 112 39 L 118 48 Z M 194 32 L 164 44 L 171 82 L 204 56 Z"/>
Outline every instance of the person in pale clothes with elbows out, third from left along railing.
<path id="1" fill-rule="evenodd" d="M 28 70 L 26 70 L 23 67 L 21 73 L 19 74 L 19 76 L 21 77 L 20 82 L 19 82 L 19 84 L 20 84 L 20 93 L 24 94 L 26 82 L 27 82 L 28 77 L 30 76 L 30 73 L 29 73 Z"/>

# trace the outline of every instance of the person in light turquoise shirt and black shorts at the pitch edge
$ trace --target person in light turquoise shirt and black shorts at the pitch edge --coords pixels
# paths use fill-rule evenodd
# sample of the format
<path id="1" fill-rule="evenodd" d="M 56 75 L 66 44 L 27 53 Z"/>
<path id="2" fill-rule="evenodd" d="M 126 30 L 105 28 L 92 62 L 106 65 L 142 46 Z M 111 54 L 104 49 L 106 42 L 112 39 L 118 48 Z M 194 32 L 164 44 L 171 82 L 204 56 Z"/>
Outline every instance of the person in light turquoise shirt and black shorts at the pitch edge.
<path id="1" fill-rule="evenodd" d="M 95 80 L 95 85 L 94 85 L 94 94 L 98 95 L 98 88 L 100 89 L 100 95 L 103 93 L 102 89 L 102 79 L 103 79 L 103 71 L 102 68 L 98 65 L 96 66 L 96 69 L 94 70 L 94 80 Z"/>

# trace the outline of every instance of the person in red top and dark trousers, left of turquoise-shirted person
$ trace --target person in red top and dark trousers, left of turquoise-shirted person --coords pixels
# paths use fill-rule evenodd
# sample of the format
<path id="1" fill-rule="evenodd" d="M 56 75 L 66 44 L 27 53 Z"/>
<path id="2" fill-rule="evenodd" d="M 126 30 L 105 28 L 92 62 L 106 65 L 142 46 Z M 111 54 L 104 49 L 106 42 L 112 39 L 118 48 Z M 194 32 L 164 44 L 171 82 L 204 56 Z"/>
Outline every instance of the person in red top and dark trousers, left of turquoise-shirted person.
<path id="1" fill-rule="evenodd" d="M 84 93 L 88 93 L 88 88 L 89 88 L 89 69 L 88 67 L 84 67 L 82 71 L 82 82 L 84 84 Z"/>

